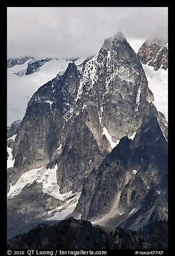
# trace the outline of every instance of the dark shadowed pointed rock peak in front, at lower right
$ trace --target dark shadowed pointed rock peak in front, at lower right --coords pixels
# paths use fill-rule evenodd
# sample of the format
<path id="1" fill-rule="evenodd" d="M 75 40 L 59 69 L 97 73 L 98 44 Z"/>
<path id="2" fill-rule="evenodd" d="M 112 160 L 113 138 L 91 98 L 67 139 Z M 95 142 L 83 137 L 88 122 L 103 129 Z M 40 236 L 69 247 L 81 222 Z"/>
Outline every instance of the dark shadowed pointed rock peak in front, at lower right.
<path id="1" fill-rule="evenodd" d="M 150 103 L 133 140 L 123 137 L 88 177 L 74 211 L 106 227 L 139 230 L 167 219 L 167 140 Z"/>

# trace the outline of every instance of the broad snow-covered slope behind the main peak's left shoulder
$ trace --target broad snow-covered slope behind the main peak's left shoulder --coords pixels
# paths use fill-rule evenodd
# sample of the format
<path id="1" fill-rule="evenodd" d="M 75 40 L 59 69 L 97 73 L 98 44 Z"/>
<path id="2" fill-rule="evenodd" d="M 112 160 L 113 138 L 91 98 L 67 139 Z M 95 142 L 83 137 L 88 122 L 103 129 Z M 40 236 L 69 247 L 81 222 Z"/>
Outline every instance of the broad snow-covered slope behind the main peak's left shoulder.
<path id="1" fill-rule="evenodd" d="M 76 64 L 81 64 L 84 59 L 85 58 L 77 60 Z M 42 84 L 52 80 L 59 72 L 67 69 L 70 62 L 65 59 L 53 59 L 46 62 L 40 68 L 39 72 L 24 76 L 17 76 L 14 74 L 21 70 L 25 70 L 30 61 L 31 59 L 26 61 L 23 65 L 16 65 L 7 69 L 8 126 L 16 120 L 23 119 L 27 108 L 27 102 L 35 91 L 37 91 Z"/>

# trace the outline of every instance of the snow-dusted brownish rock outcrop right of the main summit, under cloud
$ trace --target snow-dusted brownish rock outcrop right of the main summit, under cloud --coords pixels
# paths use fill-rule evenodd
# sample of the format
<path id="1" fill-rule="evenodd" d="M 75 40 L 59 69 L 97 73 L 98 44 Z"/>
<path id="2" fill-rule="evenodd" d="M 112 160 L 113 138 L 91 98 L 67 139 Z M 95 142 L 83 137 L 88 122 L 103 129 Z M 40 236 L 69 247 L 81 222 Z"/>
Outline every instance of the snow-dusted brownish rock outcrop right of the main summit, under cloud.
<path id="1" fill-rule="evenodd" d="M 154 37 L 147 39 L 138 50 L 137 56 L 143 64 L 148 64 L 155 70 L 159 68 L 166 70 L 168 68 L 167 40 Z"/>

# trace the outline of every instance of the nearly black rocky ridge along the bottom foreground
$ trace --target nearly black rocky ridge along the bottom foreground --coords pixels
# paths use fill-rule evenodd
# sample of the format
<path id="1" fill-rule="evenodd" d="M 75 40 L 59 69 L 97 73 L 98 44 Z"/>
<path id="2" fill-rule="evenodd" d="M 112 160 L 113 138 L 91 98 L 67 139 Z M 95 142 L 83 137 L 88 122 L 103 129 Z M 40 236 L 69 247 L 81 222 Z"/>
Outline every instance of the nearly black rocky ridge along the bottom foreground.
<path id="1" fill-rule="evenodd" d="M 35 229 L 8 240 L 8 249 L 154 249 L 167 248 L 167 222 L 157 221 L 150 233 L 107 230 L 73 217 L 54 226 L 39 224 Z"/>

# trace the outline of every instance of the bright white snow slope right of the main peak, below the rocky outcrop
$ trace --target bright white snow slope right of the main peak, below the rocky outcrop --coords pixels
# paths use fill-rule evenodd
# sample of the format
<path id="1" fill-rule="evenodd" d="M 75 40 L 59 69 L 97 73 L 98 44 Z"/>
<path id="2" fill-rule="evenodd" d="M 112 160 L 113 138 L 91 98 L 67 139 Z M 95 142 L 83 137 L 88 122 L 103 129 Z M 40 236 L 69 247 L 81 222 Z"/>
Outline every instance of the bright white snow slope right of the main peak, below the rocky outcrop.
<path id="1" fill-rule="evenodd" d="M 154 94 L 154 105 L 168 120 L 168 69 L 154 70 L 154 67 L 142 64 L 148 80 L 148 86 Z"/>

